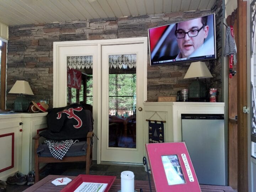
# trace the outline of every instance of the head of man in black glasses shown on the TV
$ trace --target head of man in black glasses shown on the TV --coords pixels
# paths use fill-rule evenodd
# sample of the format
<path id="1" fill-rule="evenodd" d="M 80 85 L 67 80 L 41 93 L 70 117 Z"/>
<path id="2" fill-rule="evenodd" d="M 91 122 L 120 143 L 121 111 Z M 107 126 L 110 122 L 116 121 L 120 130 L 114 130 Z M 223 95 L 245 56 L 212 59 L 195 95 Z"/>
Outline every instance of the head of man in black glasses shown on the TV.
<path id="1" fill-rule="evenodd" d="M 176 23 L 175 36 L 180 49 L 176 59 L 204 55 L 202 53 L 204 52 L 203 43 L 208 36 L 208 32 L 207 16 Z"/>

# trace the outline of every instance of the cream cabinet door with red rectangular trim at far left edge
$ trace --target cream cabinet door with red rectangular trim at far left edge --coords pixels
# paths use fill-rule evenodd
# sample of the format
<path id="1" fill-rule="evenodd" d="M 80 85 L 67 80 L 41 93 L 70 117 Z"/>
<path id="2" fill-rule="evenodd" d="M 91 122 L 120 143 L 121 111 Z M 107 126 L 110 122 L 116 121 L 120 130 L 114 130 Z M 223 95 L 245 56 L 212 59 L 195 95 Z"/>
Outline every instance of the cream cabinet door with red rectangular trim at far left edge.
<path id="1" fill-rule="evenodd" d="M 0 117 L 0 180 L 15 174 L 21 168 L 21 136 L 20 117 Z M 23 173 L 27 174 L 27 173 Z"/>

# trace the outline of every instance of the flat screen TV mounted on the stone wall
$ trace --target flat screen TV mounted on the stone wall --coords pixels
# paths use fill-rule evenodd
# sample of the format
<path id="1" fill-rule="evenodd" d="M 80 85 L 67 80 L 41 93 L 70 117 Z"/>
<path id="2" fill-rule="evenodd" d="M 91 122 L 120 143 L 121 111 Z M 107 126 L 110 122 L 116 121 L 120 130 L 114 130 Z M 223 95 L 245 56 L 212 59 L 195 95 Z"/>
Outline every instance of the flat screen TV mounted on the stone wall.
<path id="1" fill-rule="evenodd" d="M 216 59 L 215 15 L 148 29 L 150 64 Z"/>

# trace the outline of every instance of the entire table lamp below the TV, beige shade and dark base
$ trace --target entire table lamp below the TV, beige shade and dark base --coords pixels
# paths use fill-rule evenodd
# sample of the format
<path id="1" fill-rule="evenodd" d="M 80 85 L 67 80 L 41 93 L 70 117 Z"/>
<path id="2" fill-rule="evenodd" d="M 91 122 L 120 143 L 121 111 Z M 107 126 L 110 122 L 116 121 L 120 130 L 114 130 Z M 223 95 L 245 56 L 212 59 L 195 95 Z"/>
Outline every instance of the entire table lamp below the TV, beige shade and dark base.
<path id="1" fill-rule="evenodd" d="M 188 98 L 189 100 L 204 100 L 206 98 L 206 85 L 199 81 L 199 78 L 212 78 L 208 67 L 204 62 L 193 62 L 187 70 L 184 79 L 197 78 L 188 87 Z"/>

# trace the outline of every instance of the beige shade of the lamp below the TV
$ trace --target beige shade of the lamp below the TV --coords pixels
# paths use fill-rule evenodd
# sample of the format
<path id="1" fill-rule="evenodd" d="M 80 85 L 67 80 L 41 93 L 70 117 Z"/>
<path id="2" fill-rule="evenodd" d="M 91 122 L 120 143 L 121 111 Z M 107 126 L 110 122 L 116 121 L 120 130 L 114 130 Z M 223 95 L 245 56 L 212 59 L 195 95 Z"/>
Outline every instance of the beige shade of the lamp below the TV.
<path id="1" fill-rule="evenodd" d="M 187 70 L 184 79 L 188 78 L 212 78 L 208 67 L 204 62 L 193 62 Z"/>

